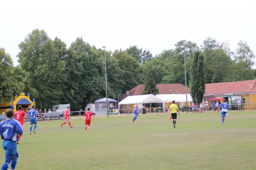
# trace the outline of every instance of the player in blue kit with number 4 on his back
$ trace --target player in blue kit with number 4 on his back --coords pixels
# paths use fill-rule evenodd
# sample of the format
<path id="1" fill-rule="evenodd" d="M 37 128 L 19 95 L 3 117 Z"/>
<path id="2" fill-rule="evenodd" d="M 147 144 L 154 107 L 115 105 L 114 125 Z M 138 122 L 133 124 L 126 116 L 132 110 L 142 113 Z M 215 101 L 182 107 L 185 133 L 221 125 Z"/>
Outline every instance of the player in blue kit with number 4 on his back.
<path id="1" fill-rule="evenodd" d="M 23 130 L 20 122 L 13 119 L 14 112 L 12 109 L 6 110 L 6 117 L 7 119 L 0 123 L 0 133 L 3 139 L 3 149 L 5 150 L 5 161 L 1 170 L 7 170 L 10 163 L 11 170 L 15 170 L 19 157 L 16 141 L 18 141 L 18 135 L 23 134 Z"/>

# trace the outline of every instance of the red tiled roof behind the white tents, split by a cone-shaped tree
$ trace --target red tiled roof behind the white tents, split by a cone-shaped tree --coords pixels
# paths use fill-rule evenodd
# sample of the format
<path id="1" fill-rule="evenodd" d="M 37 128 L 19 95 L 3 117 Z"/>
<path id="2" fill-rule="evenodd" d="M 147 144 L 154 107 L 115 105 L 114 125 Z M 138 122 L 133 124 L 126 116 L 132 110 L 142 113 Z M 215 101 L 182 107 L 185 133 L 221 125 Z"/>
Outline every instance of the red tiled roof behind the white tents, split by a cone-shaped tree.
<path id="1" fill-rule="evenodd" d="M 141 95 L 141 92 L 145 88 L 145 85 L 140 84 L 129 91 L 129 96 L 132 95 Z M 159 89 L 160 95 L 163 94 L 186 94 L 186 87 L 182 84 L 157 84 L 157 89 Z M 187 87 L 187 93 L 189 94 L 190 90 Z M 127 92 L 121 96 L 122 99 L 127 97 Z"/>

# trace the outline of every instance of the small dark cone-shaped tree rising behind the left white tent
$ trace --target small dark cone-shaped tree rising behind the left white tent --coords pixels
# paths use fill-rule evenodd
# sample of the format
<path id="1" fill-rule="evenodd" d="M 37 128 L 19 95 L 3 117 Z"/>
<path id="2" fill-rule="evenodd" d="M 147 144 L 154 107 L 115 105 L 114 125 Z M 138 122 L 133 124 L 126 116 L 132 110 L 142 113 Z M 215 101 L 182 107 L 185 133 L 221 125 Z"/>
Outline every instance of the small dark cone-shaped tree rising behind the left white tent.
<path id="1" fill-rule="evenodd" d="M 148 94 L 157 95 L 158 94 L 157 83 L 155 82 L 155 80 L 153 78 L 152 71 L 148 71 L 146 73 L 144 85 L 145 85 L 145 89 L 143 89 L 143 91 L 141 92 L 142 95 L 148 95 Z"/>

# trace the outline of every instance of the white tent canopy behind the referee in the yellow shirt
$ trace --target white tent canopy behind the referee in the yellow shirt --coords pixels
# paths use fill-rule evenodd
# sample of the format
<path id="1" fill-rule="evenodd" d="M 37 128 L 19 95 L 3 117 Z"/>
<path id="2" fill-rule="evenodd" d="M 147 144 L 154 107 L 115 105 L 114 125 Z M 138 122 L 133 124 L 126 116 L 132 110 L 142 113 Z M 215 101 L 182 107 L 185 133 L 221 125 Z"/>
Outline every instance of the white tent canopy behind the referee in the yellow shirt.
<path id="1" fill-rule="evenodd" d="M 156 95 L 163 102 L 171 103 L 173 100 L 175 102 L 186 102 L 186 94 L 168 94 L 168 95 Z M 190 94 L 187 94 L 188 102 L 192 102 Z"/>

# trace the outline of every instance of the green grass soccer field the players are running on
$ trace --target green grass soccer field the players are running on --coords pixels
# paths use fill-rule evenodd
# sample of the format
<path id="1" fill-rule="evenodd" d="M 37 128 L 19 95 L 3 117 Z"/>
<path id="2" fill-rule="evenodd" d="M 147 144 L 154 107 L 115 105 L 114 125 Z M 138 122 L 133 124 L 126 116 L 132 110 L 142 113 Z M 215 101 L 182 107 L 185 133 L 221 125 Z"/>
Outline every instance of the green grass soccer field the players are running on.
<path id="1" fill-rule="evenodd" d="M 182 114 L 38 122 L 24 125 L 17 170 L 255 170 L 256 112 Z M 4 151 L 0 150 L 0 161 Z"/>

